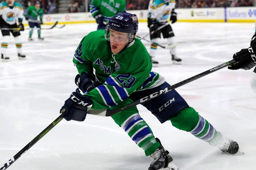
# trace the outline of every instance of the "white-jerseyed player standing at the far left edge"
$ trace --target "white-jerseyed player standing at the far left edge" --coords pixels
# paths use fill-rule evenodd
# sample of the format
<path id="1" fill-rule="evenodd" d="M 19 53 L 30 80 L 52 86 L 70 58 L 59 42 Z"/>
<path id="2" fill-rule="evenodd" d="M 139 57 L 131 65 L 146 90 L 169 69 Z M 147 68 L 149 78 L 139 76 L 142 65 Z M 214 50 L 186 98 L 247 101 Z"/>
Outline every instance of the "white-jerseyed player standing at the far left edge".
<path id="1" fill-rule="evenodd" d="M 10 39 L 10 32 L 14 36 L 17 47 L 18 57 L 24 59 L 26 56 L 22 54 L 22 41 L 20 38 L 20 31 L 24 31 L 22 24 L 23 8 L 21 4 L 15 0 L 6 0 L 0 4 L 0 28 L 3 35 L 1 44 L 1 59 L 9 60 L 6 56 L 8 42 Z M 18 22 L 18 25 L 17 25 Z"/>

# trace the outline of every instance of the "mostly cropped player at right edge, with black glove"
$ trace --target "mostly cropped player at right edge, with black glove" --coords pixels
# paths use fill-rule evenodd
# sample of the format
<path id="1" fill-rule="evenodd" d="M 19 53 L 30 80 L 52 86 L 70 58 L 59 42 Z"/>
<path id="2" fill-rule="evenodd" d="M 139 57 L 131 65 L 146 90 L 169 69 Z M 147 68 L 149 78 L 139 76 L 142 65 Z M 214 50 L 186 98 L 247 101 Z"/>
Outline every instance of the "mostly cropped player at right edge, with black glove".
<path id="1" fill-rule="evenodd" d="M 235 64 L 230 65 L 230 70 L 249 70 L 256 65 L 256 21 L 255 21 L 255 34 L 252 36 L 250 47 L 248 49 L 242 49 L 234 54 L 233 58 L 237 60 Z M 250 80 L 251 88 L 256 92 L 256 67 L 252 72 L 252 78 Z"/>

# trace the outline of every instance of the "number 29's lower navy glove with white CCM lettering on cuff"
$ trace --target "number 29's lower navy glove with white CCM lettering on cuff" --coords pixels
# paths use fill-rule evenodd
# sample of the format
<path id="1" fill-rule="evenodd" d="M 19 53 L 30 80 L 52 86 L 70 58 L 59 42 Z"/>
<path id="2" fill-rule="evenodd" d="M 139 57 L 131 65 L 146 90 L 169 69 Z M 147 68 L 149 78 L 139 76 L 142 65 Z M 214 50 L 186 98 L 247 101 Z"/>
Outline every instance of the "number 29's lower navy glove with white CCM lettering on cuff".
<path id="1" fill-rule="evenodd" d="M 84 121 L 87 114 L 87 106 L 92 104 L 88 96 L 80 94 L 79 89 L 73 92 L 68 99 L 66 99 L 64 106 L 60 109 L 59 113 L 66 113 L 64 119 Z"/>

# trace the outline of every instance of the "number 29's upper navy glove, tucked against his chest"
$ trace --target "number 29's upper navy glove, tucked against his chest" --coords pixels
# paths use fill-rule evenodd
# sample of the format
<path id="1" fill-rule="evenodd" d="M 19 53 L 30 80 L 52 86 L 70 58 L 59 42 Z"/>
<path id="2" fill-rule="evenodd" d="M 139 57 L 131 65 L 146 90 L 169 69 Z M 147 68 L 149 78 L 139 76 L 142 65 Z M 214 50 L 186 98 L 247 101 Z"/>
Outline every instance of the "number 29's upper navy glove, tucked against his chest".
<path id="1" fill-rule="evenodd" d="M 93 81 L 95 80 L 95 75 L 92 73 L 84 73 L 82 72 L 81 75 L 77 74 L 75 78 L 75 83 L 77 87 L 82 90 L 83 93 L 90 92 L 92 89 L 95 88 Z"/>

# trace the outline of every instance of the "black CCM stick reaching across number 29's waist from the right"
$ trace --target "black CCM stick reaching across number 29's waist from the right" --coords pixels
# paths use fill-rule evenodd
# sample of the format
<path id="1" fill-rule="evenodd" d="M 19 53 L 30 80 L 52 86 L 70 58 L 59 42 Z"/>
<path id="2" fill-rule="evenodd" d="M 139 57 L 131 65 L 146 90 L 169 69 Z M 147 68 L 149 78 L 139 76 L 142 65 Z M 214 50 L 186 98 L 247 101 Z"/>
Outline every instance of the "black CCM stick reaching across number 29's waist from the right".
<path id="1" fill-rule="evenodd" d="M 218 71 L 218 70 L 220 70 L 220 69 L 222 69 L 224 67 L 229 66 L 230 64 L 234 64 L 234 62 L 236 62 L 236 61 L 235 60 L 230 60 L 230 61 L 228 61 L 226 63 L 220 64 L 220 65 L 218 65 L 216 67 L 213 67 L 213 68 L 211 68 L 211 69 L 209 69 L 207 71 L 204 71 L 204 72 L 202 72 L 200 74 L 197 74 L 197 75 L 195 75 L 195 76 L 193 76 L 191 78 L 187 78 L 186 80 L 180 81 L 179 83 L 176 83 L 175 85 L 169 86 L 169 87 L 167 87 L 167 88 L 165 88 L 163 90 L 160 90 L 158 92 L 154 92 L 153 94 L 151 94 L 149 96 L 143 97 L 142 99 L 136 100 L 135 102 L 130 103 L 130 104 L 128 104 L 126 106 L 123 106 L 121 108 L 113 109 L 113 110 L 106 110 L 106 109 L 105 110 L 104 109 L 94 110 L 93 112 L 88 112 L 88 114 L 94 114 L 94 115 L 105 116 L 105 117 L 112 116 L 113 114 L 120 113 L 123 110 L 126 110 L 126 109 L 128 109 L 130 107 L 136 106 L 138 104 L 144 103 L 144 102 L 146 102 L 146 101 L 148 101 L 150 99 L 153 99 L 155 97 L 160 96 L 161 94 L 169 92 L 169 91 L 171 91 L 173 89 L 176 89 L 176 88 L 178 88 L 178 87 L 180 87 L 182 85 L 186 85 L 187 83 L 190 83 L 191 81 L 195 81 L 198 78 L 204 77 L 204 76 L 206 76 L 208 74 L 211 74 L 211 73 L 213 73 L 215 71 Z"/>

